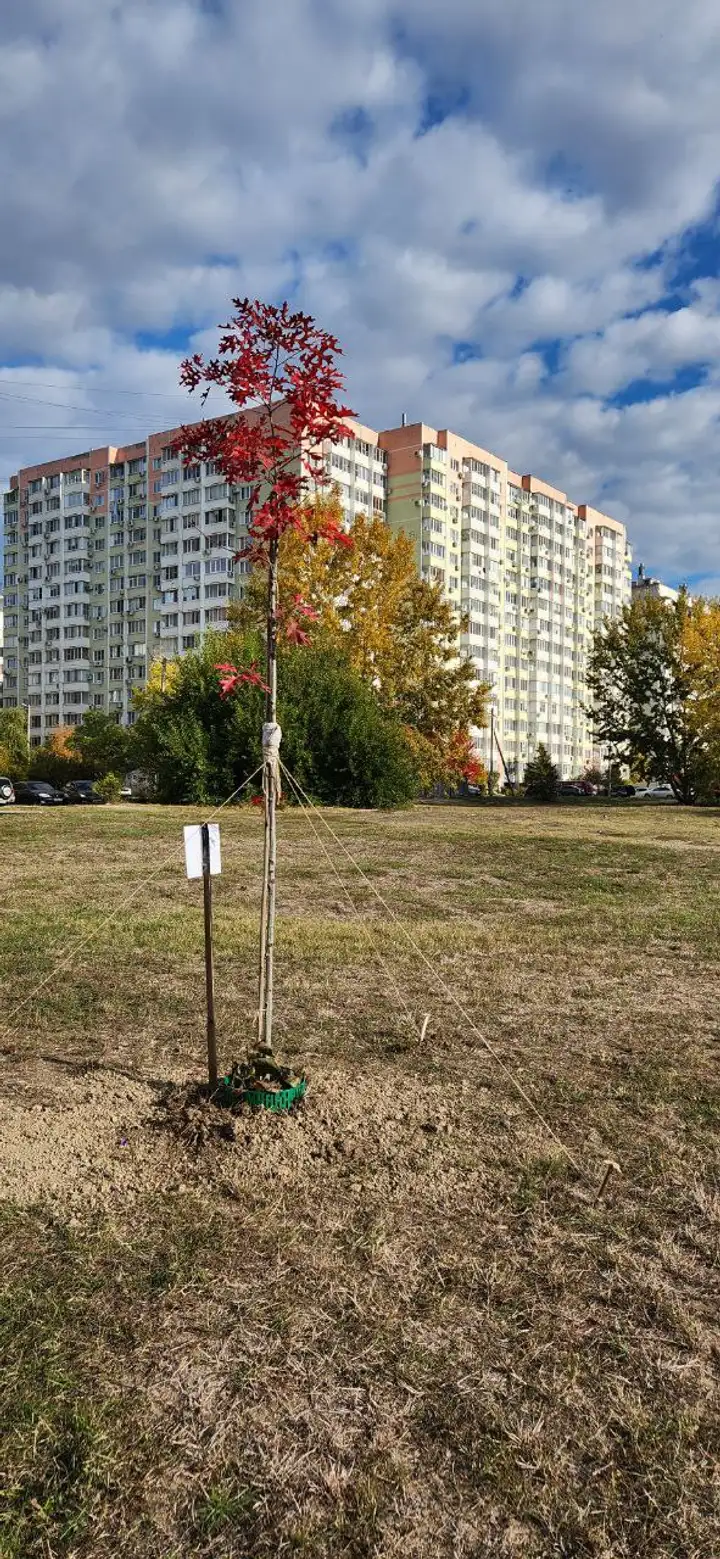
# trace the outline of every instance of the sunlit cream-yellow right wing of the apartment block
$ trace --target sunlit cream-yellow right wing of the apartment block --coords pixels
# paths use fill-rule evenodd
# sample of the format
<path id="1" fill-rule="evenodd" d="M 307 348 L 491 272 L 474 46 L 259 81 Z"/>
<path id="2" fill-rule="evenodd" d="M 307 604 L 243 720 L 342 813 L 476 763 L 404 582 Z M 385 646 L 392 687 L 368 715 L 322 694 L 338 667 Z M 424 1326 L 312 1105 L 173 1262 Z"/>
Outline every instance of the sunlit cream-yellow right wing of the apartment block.
<path id="1" fill-rule="evenodd" d="M 468 619 L 463 652 L 491 686 L 492 728 L 521 778 L 542 742 L 564 775 L 592 759 L 584 706 L 591 638 L 630 599 L 625 527 L 449 429 L 380 433 L 388 522 L 424 578 Z M 491 730 L 475 736 L 483 761 Z"/>

